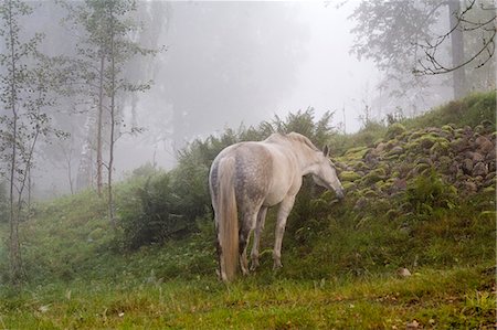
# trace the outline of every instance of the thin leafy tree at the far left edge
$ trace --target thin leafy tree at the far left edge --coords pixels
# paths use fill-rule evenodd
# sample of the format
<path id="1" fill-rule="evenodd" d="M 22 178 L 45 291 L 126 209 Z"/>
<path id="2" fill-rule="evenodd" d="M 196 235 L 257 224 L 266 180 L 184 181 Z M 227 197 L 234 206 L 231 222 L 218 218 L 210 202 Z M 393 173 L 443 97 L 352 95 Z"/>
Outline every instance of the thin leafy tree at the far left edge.
<path id="1" fill-rule="evenodd" d="M 50 95 L 53 85 L 49 58 L 38 53 L 41 34 L 24 41 L 21 21 L 32 13 L 32 8 L 20 0 L 0 4 L 0 156 L 2 175 L 9 183 L 9 252 L 11 279 L 19 285 L 22 278 L 22 257 L 19 223 L 23 216 L 25 189 L 34 164 L 36 143 L 54 131 L 50 126 L 47 108 L 53 106 Z"/>

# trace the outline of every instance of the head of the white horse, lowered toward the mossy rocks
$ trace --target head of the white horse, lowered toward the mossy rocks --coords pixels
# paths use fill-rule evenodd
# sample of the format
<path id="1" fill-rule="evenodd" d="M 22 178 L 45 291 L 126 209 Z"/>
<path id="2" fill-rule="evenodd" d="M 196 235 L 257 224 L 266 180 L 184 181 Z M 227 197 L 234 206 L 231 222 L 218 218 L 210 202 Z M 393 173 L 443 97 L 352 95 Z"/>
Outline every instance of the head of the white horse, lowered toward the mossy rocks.
<path id="1" fill-rule="evenodd" d="M 325 147 L 322 152 L 318 151 L 317 153 L 318 153 L 317 155 L 318 162 L 313 171 L 314 182 L 328 190 L 334 190 L 338 199 L 340 200 L 343 199 L 345 196 L 343 187 L 341 185 L 341 182 L 338 179 L 335 164 L 328 158 L 329 155 L 328 146 Z"/>

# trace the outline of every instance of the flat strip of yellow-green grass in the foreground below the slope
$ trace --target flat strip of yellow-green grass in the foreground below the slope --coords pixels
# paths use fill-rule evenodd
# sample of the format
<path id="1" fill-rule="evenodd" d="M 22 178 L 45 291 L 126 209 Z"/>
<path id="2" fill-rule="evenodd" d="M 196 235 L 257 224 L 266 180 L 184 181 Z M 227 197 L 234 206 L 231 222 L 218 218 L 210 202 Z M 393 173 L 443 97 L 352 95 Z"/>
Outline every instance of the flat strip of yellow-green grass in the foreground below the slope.
<path id="1" fill-rule="evenodd" d="M 296 281 L 250 277 L 229 287 L 72 283 L 0 302 L 7 329 L 400 329 L 494 327 L 494 274 L 482 267 L 420 269 L 412 277 Z M 112 294 L 109 294 L 112 292 Z"/>

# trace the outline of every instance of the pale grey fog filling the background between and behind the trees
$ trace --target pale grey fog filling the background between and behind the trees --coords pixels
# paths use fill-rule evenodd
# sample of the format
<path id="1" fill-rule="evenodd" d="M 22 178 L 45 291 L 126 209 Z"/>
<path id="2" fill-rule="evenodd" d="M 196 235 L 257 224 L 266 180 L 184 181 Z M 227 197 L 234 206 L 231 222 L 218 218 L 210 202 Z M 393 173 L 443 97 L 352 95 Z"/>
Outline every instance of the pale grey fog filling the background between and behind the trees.
<path id="1" fill-rule="evenodd" d="M 27 38 L 43 32 L 44 54 L 75 56 L 84 31 L 64 20 L 67 12 L 56 1 L 31 3 L 34 12 L 23 24 Z M 411 89 L 421 91 L 423 97 L 405 95 L 403 103 L 382 94 L 384 71 L 351 52 L 357 36 L 351 30 L 358 22 L 350 17 L 358 0 L 137 4 L 133 20 L 141 29 L 129 36 L 160 52 L 136 56 L 124 72 L 129 81 L 151 84 L 150 89 L 118 100 L 114 162 L 118 180 L 145 163 L 171 169 L 178 150 L 228 127 L 257 125 L 311 107 L 316 119 L 331 111 L 337 131 L 351 134 L 363 126 L 364 109 L 369 118 L 383 120 L 394 109 L 413 115 L 450 98 L 443 84 L 436 93 L 420 84 Z M 446 24 L 440 20 L 437 25 Z M 84 95 L 65 97 L 51 114 L 71 138 L 40 147 L 33 171 L 38 195 L 70 192 L 70 177 L 74 185 L 93 184 L 95 107 L 95 100 L 92 104 Z"/>

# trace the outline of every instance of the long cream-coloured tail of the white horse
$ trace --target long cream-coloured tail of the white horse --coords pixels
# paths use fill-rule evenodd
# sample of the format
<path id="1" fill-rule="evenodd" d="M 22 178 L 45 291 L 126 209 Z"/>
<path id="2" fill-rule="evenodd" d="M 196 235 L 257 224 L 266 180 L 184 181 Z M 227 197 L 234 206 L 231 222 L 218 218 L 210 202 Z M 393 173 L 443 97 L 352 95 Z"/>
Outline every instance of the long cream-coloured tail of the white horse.
<path id="1" fill-rule="evenodd" d="M 221 278 L 231 281 L 239 267 L 239 219 L 234 189 L 235 160 L 221 159 L 219 163 L 218 242 L 220 245 Z"/>

